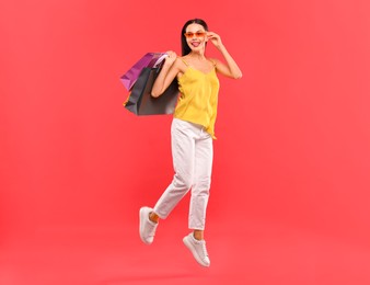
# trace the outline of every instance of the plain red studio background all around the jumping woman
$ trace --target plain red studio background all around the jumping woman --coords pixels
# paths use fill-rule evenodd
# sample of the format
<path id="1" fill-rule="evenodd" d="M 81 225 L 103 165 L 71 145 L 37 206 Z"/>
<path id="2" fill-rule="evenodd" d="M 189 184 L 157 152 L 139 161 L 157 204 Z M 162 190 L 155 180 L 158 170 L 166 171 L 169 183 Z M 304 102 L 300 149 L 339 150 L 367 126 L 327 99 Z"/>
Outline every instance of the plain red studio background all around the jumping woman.
<path id="1" fill-rule="evenodd" d="M 1 1 L 0 284 L 369 284 L 369 13 Z M 180 54 L 196 16 L 243 71 L 220 77 L 206 271 L 181 244 L 188 197 L 140 243 L 138 209 L 173 175 L 171 116 L 132 115 L 119 82 L 147 52 Z"/>

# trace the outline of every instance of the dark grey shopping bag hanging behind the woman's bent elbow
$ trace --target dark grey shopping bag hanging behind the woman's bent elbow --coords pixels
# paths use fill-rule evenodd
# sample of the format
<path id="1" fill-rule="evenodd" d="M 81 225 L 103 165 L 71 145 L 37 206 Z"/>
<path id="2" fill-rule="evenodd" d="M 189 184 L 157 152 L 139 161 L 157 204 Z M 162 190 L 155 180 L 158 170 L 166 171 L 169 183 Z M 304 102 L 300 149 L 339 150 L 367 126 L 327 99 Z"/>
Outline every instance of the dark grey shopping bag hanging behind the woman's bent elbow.
<path id="1" fill-rule="evenodd" d="M 146 67 L 141 70 L 124 106 L 136 115 L 172 114 L 178 99 L 178 83 L 174 79 L 164 93 L 158 98 L 151 95 L 153 83 L 161 66 Z"/>

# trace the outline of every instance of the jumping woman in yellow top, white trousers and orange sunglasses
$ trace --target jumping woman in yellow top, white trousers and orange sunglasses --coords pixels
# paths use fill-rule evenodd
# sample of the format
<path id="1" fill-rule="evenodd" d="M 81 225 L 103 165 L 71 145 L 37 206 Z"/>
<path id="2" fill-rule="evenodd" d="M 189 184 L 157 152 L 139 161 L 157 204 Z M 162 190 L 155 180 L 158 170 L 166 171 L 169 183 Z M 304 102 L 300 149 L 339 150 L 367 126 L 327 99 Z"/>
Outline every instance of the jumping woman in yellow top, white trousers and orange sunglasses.
<path id="1" fill-rule="evenodd" d="M 181 95 L 171 126 L 175 174 L 153 208 L 140 208 L 140 238 L 147 244 L 152 243 L 159 219 L 166 218 L 192 190 L 188 218 L 192 232 L 183 241 L 200 265 L 209 266 L 204 230 L 212 169 L 212 139 L 216 139 L 217 73 L 238 79 L 242 72 L 220 36 L 209 32 L 205 21 L 187 21 L 181 37 L 183 56 L 177 57 L 172 50 L 166 53 L 169 56 L 151 91 L 152 96 L 160 96 L 177 78 Z M 226 64 L 206 57 L 208 42 L 221 53 Z"/>

